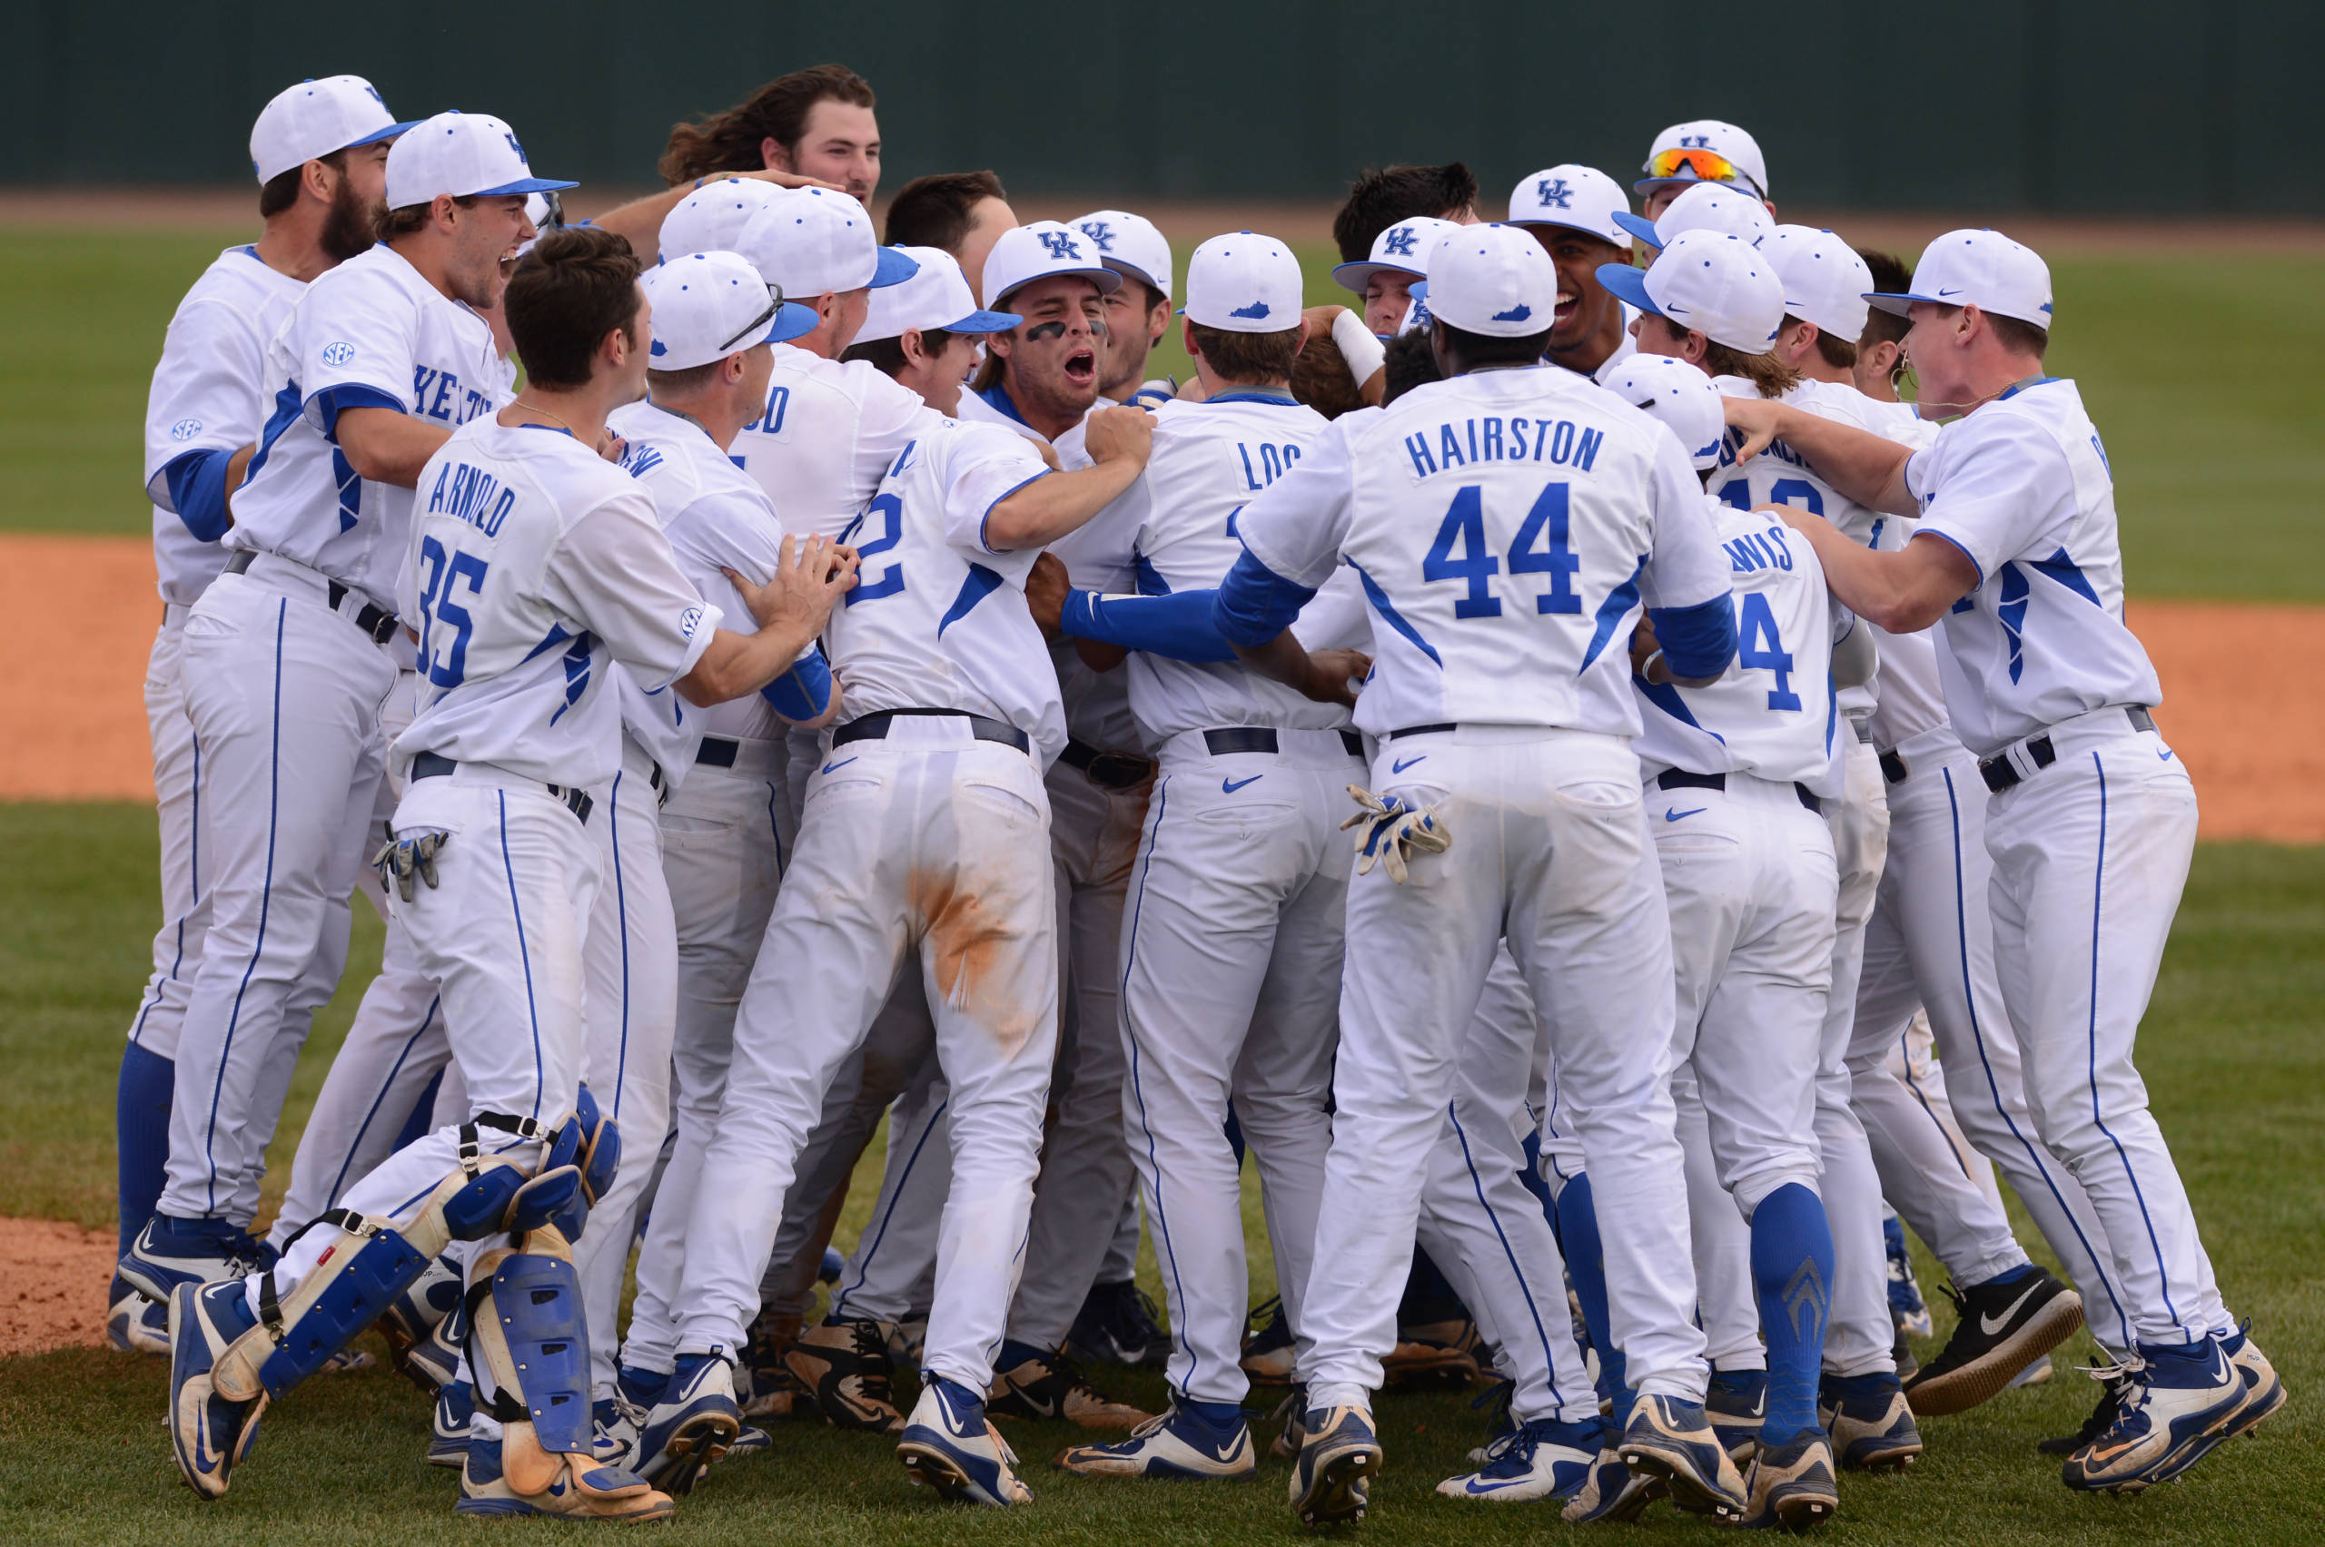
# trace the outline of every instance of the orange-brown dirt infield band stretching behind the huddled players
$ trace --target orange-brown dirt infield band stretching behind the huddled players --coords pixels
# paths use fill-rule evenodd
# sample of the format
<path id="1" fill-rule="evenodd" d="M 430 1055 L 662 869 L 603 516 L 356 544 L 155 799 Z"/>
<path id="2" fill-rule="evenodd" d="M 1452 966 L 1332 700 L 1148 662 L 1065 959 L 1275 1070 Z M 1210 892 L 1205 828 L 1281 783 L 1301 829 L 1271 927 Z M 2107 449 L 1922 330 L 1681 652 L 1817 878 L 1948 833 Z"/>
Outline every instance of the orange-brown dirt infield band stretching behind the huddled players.
<path id="1" fill-rule="evenodd" d="M 140 537 L 0 537 L 0 799 L 153 799 L 144 667 L 160 602 Z M 2132 602 L 2206 839 L 2325 843 L 2325 609 Z"/>

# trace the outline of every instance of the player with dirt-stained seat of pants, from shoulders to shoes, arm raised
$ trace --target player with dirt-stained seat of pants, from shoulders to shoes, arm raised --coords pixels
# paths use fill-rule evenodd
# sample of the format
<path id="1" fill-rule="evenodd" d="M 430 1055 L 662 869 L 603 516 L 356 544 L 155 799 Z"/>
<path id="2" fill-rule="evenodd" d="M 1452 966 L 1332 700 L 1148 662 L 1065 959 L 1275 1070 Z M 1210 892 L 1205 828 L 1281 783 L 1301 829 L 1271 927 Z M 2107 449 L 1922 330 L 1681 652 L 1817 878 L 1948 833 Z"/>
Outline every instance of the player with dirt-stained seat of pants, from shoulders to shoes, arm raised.
<path id="1" fill-rule="evenodd" d="M 825 646 L 846 715 L 807 792 L 809 820 L 735 1024 L 679 1298 L 677 1373 L 649 1456 L 700 1470 L 737 1431 L 728 1359 L 758 1312 L 793 1161 L 825 1085 L 911 948 L 951 1089 L 944 1206 L 921 1403 L 897 1456 L 977 1503 L 1030 1498 L 983 1394 L 1032 1210 L 1058 1029 L 1049 799 L 1065 743 L 1056 671 L 1025 613 L 1037 551 L 1114 499 L 1146 460 L 1149 418 L 1090 420 L 1093 467 L 1049 474 L 1016 434 L 939 420 L 881 481 L 856 602 Z M 881 523 L 874 527 L 874 523 Z M 1011 578 L 1016 576 L 1016 578 Z M 1114 1208 L 1107 1210 L 1111 1226 Z"/>

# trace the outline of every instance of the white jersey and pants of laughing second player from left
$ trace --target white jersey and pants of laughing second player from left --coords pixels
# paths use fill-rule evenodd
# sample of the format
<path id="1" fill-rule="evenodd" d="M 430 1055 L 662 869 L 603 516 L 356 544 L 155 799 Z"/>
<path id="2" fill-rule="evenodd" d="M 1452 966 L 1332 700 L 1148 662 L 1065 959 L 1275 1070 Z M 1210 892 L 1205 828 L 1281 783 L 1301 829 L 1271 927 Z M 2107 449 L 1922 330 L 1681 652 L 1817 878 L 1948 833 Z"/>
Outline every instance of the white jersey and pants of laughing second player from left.
<path id="1" fill-rule="evenodd" d="M 186 706 L 209 806 L 209 941 L 186 1008 L 160 1213 L 221 1213 L 256 1187 L 272 1113 L 258 1068 L 298 985 L 337 980 L 384 767 L 379 711 L 409 643 L 395 623 L 412 490 L 358 479 L 344 409 L 446 427 L 502 402 L 484 321 L 381 244 L 300 297 L 267 355 L 272 418 L 235 495 L 235 557 L 186 620 Z M 237 567 L 244 567 L 239 574 Z"/>

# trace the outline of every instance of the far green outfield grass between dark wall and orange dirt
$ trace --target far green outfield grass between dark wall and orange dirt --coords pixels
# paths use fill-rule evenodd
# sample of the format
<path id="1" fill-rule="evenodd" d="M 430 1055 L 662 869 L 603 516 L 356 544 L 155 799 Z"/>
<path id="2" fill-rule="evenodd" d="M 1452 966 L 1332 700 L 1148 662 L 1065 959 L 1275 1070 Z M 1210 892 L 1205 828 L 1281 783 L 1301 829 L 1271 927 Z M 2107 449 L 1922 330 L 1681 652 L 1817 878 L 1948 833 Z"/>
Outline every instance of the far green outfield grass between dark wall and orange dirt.
<path id="1" fill-rule="evenodd" d="M 0 383 L 0 530 L 144 532 L 140 425 L 160 334 L 249 230 L 0 235 L 16 374 Z M 1346 300 L 1304 249 L 1311 302 Z M 2325 286 L 2302 258 L 2069 258 L 2058 348 L 2106 437 L 2130 585 L 2148 597 L 2325 595 Z M 1186 374 L 1176 341 L 1160 369 Z"/>

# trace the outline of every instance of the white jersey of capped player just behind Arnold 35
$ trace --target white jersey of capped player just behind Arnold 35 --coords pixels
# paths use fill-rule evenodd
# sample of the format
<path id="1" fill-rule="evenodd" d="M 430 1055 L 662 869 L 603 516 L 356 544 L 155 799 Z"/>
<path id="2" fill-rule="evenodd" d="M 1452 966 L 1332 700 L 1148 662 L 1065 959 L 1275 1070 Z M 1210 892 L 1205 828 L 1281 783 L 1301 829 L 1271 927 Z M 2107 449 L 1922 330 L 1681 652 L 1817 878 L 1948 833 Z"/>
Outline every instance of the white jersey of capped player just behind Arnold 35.
<path id="1" fill-rule="evenodd" d="M 721 611 L 721 627 L 756 634 L 758 620 L 723 569 L 749 576 L 753 585 L 774 578 L 784 555 L 784 525 L 774 518 L 767 492 L 691 418 L 632 402 L 616 409 L 607 425 L 630 441 L 621 465 L 653 495 L 679 574 Z M 756 692 L 709 708 L 674 708 L 677 734 L 660 746 L 686 764 L 695 760 L 702 736 L 772 741 L 791 729 Z M 670 767 L 663 764 L 665 771 Z"/>

